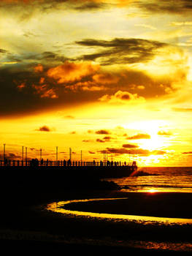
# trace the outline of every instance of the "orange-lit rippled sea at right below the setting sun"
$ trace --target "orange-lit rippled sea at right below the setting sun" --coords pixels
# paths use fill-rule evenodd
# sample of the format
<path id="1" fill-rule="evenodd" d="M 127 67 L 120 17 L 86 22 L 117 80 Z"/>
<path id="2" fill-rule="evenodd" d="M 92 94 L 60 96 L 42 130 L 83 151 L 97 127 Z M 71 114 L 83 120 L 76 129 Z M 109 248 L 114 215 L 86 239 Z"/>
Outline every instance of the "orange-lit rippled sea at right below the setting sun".
<path id="1" fill-rule="evenodd" d="M 129 177 L 110 181 L 128 192 L 192 192 L 192 167 L 139 167 Z"/>

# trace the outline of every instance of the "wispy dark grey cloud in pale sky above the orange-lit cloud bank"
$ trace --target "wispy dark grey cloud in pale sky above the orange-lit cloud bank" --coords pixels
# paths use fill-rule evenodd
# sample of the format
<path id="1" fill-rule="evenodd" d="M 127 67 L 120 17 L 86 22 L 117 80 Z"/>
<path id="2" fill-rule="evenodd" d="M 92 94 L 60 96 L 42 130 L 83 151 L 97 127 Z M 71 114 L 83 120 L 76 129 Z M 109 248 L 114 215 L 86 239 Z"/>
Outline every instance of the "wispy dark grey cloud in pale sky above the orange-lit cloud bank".
<path id="1" fill-rule="evenodd" d="M 84 39 L 76 43 L 88 48 L 104 48 L 104 50 L 80 57 L 84 61 L 98 61 L 99 59 L 102 65 L 147 62 L 153 59 L 158 49 L 167 46 L 164 42 L 137 38 L 115 38 L 110 41 Z"/>

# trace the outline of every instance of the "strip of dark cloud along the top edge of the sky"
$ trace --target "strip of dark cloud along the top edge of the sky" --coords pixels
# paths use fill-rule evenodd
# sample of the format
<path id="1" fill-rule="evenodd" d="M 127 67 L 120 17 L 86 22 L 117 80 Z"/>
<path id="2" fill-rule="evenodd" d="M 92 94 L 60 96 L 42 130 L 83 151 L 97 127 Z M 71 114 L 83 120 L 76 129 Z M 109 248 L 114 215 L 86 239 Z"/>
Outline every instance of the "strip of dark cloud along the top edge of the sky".
<path id="1" fill-rule="evenodd" d="M 52 10 L 74 10 L 77 12 L 92 12 L 98 10 L 109 9 L 110 7 L 128 8 L 139 7 L 145 12 L 152 13 L 170 13 L 182 15 L 191 14 L 191 0 L 132 0 L 110 2 L 105 0 L 1 0 L 0 7 L 10 11 L 22 10 L 20 19 L 26 20 L 36 12 L 50 12 Z M 16 9 L 15 9 L 16 8 Z"/>

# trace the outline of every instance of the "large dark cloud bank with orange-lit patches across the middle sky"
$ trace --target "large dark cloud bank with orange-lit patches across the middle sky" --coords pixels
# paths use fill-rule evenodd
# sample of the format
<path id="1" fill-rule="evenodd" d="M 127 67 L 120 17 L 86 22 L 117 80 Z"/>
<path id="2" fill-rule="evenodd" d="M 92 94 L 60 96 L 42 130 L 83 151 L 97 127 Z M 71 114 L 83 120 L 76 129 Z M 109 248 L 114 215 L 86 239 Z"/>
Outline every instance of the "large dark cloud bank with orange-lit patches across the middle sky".
<path id="1" fill-rule="evenodd" d="M 165 88 L 172 86 L 169 78 L 154 80 L 131 69 L 104 72 L 98 65 L 83 62 L 66 61 L 58 66 L 54 62 L 50 66 L 51 61 L 41 64 L 34 59 L 30 59 L 31 64 L 20 61 L 0 67 L 1 116 L 30 115 L 61 106 L 98 102 L 104 95 L 108 95 L 107 99 L 123 97 L 124 102 L 130 95 L 138 95 L 138 99 L 160 97 L 166 94 Z M 145 89 L 139 90 L 138 86 Z M 117 88 L 123 91 L 122 95 L 117 94 Z"/>

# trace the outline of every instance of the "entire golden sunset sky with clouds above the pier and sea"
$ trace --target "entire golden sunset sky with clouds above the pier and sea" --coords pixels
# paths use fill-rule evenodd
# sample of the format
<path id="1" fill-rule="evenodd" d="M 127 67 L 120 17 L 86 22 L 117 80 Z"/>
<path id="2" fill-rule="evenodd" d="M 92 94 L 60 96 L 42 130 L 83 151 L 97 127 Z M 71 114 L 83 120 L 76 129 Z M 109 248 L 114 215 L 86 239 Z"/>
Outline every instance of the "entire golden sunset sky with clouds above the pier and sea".
<path id="1" fill-rule="evenodd" d="M 1 0 L 0 153 L 192 166 L 191 0 Z"/>

